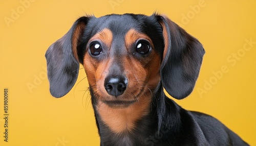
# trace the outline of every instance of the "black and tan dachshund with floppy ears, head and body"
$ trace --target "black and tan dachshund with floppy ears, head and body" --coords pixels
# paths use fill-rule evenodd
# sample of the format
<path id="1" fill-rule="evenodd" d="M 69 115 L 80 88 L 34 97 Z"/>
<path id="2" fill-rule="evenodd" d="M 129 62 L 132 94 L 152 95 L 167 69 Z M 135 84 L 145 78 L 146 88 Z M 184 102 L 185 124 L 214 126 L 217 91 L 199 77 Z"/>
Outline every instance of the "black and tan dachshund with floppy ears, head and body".
<path id="1" fill-rule="evenodd" d="M 60 98 L 84 67 L 100 145 L 248 145 L 216 118 L 167 98 L 188 96 L 205 51 L 164 15 L 83 16 L 46 52 Z"/>

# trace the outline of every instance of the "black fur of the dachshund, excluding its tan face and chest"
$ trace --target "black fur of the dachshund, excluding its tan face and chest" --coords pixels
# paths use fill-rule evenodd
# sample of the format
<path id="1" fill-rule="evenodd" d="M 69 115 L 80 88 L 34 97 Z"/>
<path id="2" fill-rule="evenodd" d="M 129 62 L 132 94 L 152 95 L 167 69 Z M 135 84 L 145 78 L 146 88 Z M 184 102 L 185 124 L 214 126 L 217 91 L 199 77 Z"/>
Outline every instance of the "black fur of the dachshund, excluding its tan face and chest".
<path id="1" fill-rule="evenodd" d="M 78 60 L 72 52 L 71 43 L 77 25 L 86 26 L 75 48 Z M 167 29 L 167 40 L 164 40 L 163 25 Z M 197 39 L 158 14 L 112 14 L 100 18 L 79 18 L 70 31 L 52 44 L 46 53 L 53 96 L 59 98 L 71 90 L 78 76 L 78 62 L 83 64 L 83 56 L 87 53 L 89 39 L 103 28 L 109 28 L 114 39 L 120 40 L 114 44 L 117 47 L 123 45 L 121 40 L 131 28 L 146 34 L 152 39 L 162 64 L 159 70 L 161 82 L 153 91 L 151 112 L 137 121 L 133 132 L 115 134 L 103 123 L 95 107 L 97 98 L 90 88 L 100 145 L 248 145 L 214 117 L 187 111 L 164 94 L 164 88 L 176 99 L 183 99 L 191 93 L 198 78 L 204 49 Z M 167 47 L 165 41 L 168 41 Z M 164 47 L 168 49 L 165 55 Z"/>

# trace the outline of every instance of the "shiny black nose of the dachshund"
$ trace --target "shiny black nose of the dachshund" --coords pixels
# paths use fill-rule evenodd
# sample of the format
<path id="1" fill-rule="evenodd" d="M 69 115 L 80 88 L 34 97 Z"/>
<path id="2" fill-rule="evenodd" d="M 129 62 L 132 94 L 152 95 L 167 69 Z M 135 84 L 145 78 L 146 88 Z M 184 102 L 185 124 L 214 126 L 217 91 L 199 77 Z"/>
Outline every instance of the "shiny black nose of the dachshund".
<path id="1" fill-rule="evenodd" d="M 127 87 L 127 79 L 122 76 L 108 76 L 105 79 L 104 86 L 106 91 L 113 96 L 119 96 L 123 94 Z"/>

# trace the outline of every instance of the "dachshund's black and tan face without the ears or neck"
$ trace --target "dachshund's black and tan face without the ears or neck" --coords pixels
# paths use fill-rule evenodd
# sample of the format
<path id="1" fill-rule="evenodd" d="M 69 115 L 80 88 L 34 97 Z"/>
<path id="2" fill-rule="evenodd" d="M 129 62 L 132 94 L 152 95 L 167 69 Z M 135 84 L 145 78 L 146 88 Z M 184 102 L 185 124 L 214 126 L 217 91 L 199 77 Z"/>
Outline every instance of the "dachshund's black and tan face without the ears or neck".
<path id="1" fill-rule="evenodd" d="M 91 37 L 81 40 L 79 49 L 84 53 L 80 60 L 91 92 L 100 103 L 125 108 L 151 101 L 160 82 L 159 48 L 164 45 L 159 23 L 148 24 L 148 19 L 109 15 L 89 21 L 95 31 L 87 28 L 84 32 Z"/>

